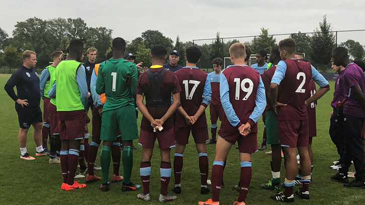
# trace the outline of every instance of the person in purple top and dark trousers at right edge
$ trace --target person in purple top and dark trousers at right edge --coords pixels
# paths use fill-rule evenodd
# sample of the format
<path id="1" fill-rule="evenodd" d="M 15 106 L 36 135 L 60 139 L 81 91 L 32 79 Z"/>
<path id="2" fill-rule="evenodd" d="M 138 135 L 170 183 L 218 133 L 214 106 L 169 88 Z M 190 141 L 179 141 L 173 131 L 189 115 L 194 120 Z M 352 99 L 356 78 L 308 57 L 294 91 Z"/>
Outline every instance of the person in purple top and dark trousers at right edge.
<path id="1" fill-rule="evenodd" d="M 344 183 L 346 187 L 365 187 L 365 163 L 361 130 L 365 118 L 365 75 L 362 69 L 348 59 L 347 49 L 338 47 L 332 52 L 333 63 L 345 67 L 343 75 L 344 96 L 344 147 L 341 168 L 332 176 L 333 180 Z M 348 167 L 353 161 L 356 170 L 355 180 L 348 182 Z M 347 180 L 346 180 L 347 179 Z"/>

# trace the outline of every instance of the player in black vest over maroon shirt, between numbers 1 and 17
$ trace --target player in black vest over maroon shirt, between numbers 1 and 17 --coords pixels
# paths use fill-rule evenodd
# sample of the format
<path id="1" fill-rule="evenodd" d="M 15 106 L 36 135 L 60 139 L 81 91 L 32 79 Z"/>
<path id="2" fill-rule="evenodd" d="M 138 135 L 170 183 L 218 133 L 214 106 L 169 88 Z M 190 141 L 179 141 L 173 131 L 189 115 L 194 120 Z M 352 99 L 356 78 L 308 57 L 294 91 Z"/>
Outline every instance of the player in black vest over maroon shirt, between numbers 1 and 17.
<path id="1" fill-rule="evenodd" d="M 181 88 L 177 76 L 162 66 L 166 56 L 167 51 L 164 46 L 153 46 L 150 54 L 152 66 L 141 74 L 137 83 L 137 106 L 143 115 L 138 142 L 143 147 L 140 165 L 143 192 L 137 197 L 144 201 L 150 200 L 151 158 L 156 138 L 161 155 L 161 194 L 158 200 L 166 202 L 177 198 L 167 192 L 167 186 L 171 176 L 170 150 L 175 146 L 172 114 L 180 104 Z M 146 105 L 143 103 L 144 96 Z"/>

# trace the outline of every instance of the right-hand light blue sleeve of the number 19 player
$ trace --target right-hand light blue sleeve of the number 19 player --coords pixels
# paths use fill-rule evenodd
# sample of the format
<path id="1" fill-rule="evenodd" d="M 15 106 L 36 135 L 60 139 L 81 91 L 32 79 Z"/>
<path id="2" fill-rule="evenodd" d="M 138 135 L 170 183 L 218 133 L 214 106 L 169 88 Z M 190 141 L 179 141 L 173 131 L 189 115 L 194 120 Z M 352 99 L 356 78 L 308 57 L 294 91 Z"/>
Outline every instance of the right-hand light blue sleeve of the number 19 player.
<path id="1" fill-rule="evenodd" d="M 265 86 L 263 85 L 261 76 L 260 76 L 260 82 L 258 83 L 258 87 L 256 90 L 255 104 L 256 106 L 253 109 L 253 112 L 251 113 L 249 119 L 257 123 L 258 119 L 261 117 L 266 107 Z"/>

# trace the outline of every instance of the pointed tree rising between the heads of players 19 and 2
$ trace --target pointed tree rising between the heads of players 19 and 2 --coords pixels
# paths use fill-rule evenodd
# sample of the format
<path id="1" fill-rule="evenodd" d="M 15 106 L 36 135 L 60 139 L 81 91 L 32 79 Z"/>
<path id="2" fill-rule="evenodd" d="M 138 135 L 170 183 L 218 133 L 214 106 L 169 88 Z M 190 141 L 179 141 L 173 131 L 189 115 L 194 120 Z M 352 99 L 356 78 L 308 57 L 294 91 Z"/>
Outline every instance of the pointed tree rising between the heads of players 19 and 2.
<path id="1" fill-rule="evenodd" d="M 251 45 L 252 54 L 255 54 L 255 52 L 263 49 L 266 51 L 266 53 L 269 53 L 272 46 L 276 45 L 276 38 L 273 36 L 268 35 L 268 29 L 261 28 L 261 33 L 258 37 L 256 37 L 256 40 L 253 39 Z"/>

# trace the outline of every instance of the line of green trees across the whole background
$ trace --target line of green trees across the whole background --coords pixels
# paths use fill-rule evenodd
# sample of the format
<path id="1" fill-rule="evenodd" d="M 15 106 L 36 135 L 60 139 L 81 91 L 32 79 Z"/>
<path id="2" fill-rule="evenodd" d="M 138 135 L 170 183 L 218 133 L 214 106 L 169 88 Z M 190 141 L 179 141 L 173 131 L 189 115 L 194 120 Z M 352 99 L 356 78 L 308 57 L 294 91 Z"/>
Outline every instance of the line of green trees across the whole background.
<path id="1" fill-rule="evenodd" d="M 319 28 L 314 31 L 312 36 L 298 32 L 291 34 L 290 37 L 296 40 L 297 52 L 305 53 L 306 58 L 314 66 L 324 71 L 330 68 L 331 53 L 336 46 L 335 35 L 331 31 L 331 25 L 324 16 L 323 21 L 319 23 Z M 28 49 L 37 53 L 37 68 L 44 68 L 52 61 L 51 53 L 54 50 L 66 52 L 69 41 L 75 38 L 79 38 L 84 42 L 85 52 L 88 47 L 97 48 L 97 62 L 102 62 L 106 60 L 106 54 L 111 50 L 112 33 L 113 30 L 106 27 L 88 27 L 81 18 L 56 18 L 50 20 L 42 20 L 36 17 L 29 18 L 23 22 L 17 22 L 11 38 L 0 28 L 0 65 L 9 68 L 21 66 L 21 53 Z M 202 50 L 202 57 L 198 66 L 211 68 L 211 61 L 214 58 L 229 57 L 229 47 L 236 42 L 239 42 L 239 40 L 222 40 L 220 33 L 217 32 L 216 38 L 210 43 L 198 45 Z M 260 49 L 269 53 L 271 47 L 277 45 L 277 40 L 274 36 L 268 34 L 268 29 L 261 28 L 259 36 L 252 39 L 252 41 L 242 43 L 250 46 L 252 54 Z M 147 30 L 140 37 L 127 42 L 126 53 L 133 53 L 136 56 L 136 62 L 143 62 L 144 66 L 150 66 L 149 53 L 151 47 L 155 44 L 164 45 L 168 52 L 177 50 L 180 53 L 178 63 L 183 66 L 185 65 L 186 48 L 194 45 L 192 41 L 181 42 L 179 36 L 173 41 L 160 31 Z M 348 49 L 352 60 L 365 60 L 364 46 L 359 42 L 349 39 L 340 43 L 339 46 Z"/>

